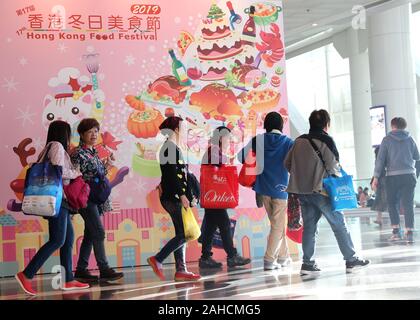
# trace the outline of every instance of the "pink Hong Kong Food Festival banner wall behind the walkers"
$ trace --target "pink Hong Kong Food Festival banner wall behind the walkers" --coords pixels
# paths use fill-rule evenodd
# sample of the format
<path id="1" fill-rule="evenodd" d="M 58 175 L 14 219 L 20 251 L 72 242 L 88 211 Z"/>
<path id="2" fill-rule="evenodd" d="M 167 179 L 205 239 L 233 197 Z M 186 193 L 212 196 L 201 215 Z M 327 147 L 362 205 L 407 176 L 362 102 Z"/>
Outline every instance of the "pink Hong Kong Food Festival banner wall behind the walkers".
<path id="1" fill-rule="evenodd" d="M 99 155 L 115 155 L 114 211 L 104 216 L 115 266 L 143 264 L 171 237 L 155 190 L 167 116 L 187 121 L 183 150 L 197 176 L 217 126 L 232 129 L 232 159 L 270 111 L 283 115 L 288 133 L 281 1 L 5 0 L 1 9 L 0 275 L 24 266 L 48 236 L 46 222 L 23 215 L 20 203 L 54 120 L 72 126 L 76 146 L 80 120 L 98 119 Z M 255 207 L 241 187 L 231 216 L 248 256 L 261 255 L 255 235 L 268 226 Z M 77 255 L 83 224 L 75 220 Z M 189 250 L 195 259 L 199 246 Z"/>

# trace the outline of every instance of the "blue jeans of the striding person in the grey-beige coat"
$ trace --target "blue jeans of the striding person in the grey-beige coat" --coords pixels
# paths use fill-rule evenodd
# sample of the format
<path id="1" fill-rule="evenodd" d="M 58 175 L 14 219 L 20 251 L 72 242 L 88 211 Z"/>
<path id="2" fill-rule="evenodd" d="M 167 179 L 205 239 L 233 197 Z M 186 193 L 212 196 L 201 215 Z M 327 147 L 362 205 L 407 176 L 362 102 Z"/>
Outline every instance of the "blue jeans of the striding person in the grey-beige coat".
<path id="1" fill-rule="evenodd" d="M 343 212 L 333 212 L 330 199 L 321 194 L 301 194 L 299 200 L 303 218 L 303 263 L 314 265 L 315 236 L 318 233 L 318 221 L 325 216 L 334 232 L 340 251 L 346 261 L 354 261 L 355 256 L 353 241 L 347 230 Z"/>

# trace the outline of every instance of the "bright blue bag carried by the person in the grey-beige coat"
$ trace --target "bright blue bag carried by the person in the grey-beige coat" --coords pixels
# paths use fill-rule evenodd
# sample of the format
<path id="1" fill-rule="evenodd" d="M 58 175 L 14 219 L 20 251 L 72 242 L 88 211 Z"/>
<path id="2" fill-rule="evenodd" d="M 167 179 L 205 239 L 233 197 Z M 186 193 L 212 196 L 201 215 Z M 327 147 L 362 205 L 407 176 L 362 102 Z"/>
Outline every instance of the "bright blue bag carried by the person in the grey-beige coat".
<path id="1" fill-rule="evenodd" d="M 341 168 L 341 177 L 329 176 L 323 180 L 333 211 L 357 208 L 357 198 L 353 187 L 353 177 Z"/>

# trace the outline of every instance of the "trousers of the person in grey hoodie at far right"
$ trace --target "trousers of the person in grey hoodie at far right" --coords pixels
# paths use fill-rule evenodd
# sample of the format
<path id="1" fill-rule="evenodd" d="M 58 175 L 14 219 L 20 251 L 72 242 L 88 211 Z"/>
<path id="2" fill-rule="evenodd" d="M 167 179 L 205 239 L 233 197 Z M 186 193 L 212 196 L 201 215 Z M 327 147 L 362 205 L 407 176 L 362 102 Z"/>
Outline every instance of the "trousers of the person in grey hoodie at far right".
<path id="1" fill-rule="evenodd" d="M 386 196 L 392 226 L 400 225 L 400 203 L 404 210 L 406 229 L 414 229 L 414 189 L 416 177 L 413 174 L 386 177 Z M 400 202 L 401 198 L 401 202 Z"/>

